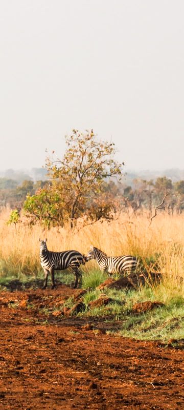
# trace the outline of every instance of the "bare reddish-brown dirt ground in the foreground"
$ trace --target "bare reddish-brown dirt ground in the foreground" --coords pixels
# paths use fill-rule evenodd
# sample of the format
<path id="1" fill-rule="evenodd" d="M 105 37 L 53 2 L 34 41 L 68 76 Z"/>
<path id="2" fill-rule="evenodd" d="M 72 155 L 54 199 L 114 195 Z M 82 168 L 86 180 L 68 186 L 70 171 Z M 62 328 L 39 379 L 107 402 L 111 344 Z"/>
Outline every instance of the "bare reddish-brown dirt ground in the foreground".
<path id="1" fill-rule="evenodd" d="M 102 318 L 40 310 L 73 294 L 64 285 L 1 292 L 0 410 L 183 409 L 182 349 L 109 336 Z"/>

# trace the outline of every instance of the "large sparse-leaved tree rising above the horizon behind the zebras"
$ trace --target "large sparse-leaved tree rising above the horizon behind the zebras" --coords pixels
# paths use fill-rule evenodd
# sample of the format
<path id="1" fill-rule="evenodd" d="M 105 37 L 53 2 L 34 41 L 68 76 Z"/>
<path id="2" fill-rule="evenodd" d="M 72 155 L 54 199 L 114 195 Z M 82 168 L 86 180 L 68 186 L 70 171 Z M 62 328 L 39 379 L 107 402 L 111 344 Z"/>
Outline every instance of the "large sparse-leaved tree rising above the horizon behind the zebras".
<path id="1" fill-rule="evenodd" d="M 87 215 L 87 219 L 93 220 L 94 209 L 95 220 L 105 217 L 105 207 L 102 207 L 104 201 L 100 201 L 100 197 L 104 196 L 103 183 L 109 177 L 121 178 L 124 162 L 114 160 L 114 144 L 99 141 L 93 130 L 84 134 L 73 130 L 71 136 L 65 137 L 65 142 L 66 151 L 62 159 L 55 159 L 49 155 L 46 158 L 45 166 L 52 181 L 52 188 L 49 187 L 47 190 L 49 192 L 52 189 L 52 192 L 58 195 L 58 214 L 62 215 L 63 222 L 70 220 L 73 228 L 77 219 L 84 214 Z M 40 193 L 41 190 L 39 195 Z M 36 201 L 35 194 L 34 204 Z M 26 201 L 25 208 L 27 204 Z M 108 216 L 113 205 L 114 198 L 111 202 L 108 200 Z M 101 212 L 98 212 L 98 207 L 99 211 L 102 208 Z"/>

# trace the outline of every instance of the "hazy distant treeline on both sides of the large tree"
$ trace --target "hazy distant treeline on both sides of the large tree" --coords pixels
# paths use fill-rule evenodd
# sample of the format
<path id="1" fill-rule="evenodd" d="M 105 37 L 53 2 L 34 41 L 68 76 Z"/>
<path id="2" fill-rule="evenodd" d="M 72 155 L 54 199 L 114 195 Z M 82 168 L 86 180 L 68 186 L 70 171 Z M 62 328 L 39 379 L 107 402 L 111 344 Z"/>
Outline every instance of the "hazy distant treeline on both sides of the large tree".
<path id="1" fill-rule="evenodd" d="M 9 206 L 20 211 L 27 195 L 33 196 L 40 189 L 51 187 L 52 183 L 51 180 L 34 182 L 31 179 L 20 183 L 7 177 L 0 178 L 0 210 Z M 119 183 L 110 180 L 104 183 L 103 193 L 106 198 L 110 194 L 116 200 L 119 210 L 138 212 L 147 209 L 151 215 L 166 194 L 162 209 L 172 214 L 181 213 L 184 209 L 184 180 L 172 182 L 166 176 L 155 181 L 135 178 L 132 185 L 127 185 L 125 180 Z"/>

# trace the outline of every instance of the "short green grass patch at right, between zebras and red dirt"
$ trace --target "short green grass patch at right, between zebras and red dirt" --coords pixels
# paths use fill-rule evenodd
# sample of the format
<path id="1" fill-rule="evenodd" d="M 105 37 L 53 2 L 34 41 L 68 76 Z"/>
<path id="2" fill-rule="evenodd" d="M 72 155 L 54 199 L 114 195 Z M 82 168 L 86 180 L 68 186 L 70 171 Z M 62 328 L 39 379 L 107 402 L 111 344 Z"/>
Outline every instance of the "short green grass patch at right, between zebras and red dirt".
<path id="1" fill-rule="evenodd" d="M 94 277 L 98 279 L 97 271 L 87 274 L 87 284 L 93 284 Z M 101 279 L 102 280 L 102 279 Z M 104 280 L 104 278 L 103 278 Z M 87 288 L 87 286 L 86 286 Z M 84 295 L 83 301 L 86 305 L 84 312 L 79 316 L 104 317 L 105 320 L 121 322 L 119 334 L 126 337 L 133 337 L 142 340 L 163 340 L 171 338 L 184 338 L 184 297 L 182 290 L 176 289 L 168 293 L 166 297 L 166 285 L 160 283 L 157 286 L 145 286 L 140 290 L 113 290 L 104 288 L 103 290 L 93 289 L 88 286 L 89 291 Z M 88 308 L 90 301 L 96 300 L 101 293 L 112 299 L 106 306 L 100 308 Z M 158 301 L 164 303 L 164 306 L 155 307 L 151 311 L 141 314 L 134 314 L 132 307 L 135 303 L 146 301 Z M 113 331 L 114 332 L 114 331 Z"/>

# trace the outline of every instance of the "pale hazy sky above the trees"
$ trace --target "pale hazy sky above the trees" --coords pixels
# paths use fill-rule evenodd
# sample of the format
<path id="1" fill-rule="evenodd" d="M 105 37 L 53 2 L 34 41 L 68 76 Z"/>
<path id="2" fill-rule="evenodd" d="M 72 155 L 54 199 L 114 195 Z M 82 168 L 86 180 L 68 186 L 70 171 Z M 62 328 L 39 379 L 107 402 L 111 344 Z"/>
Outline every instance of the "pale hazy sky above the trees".
<path id="1" fill-rule="evenodd" d="M 128 169 L 184 169 L 183 0 L 1 0 L 0 170 L 93 128 Z"/>

